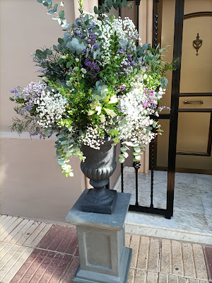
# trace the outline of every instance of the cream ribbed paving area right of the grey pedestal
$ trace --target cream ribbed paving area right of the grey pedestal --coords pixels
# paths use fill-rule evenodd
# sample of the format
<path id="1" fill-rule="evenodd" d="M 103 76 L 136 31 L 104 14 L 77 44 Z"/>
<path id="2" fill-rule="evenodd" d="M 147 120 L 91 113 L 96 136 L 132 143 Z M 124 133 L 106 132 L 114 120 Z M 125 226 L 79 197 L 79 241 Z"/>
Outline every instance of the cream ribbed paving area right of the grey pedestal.
<path id="1" fill-rule="evenodd" d="M 206 283 L 203 246 L 126 234 L 133 249 L 128 283 Z"/>

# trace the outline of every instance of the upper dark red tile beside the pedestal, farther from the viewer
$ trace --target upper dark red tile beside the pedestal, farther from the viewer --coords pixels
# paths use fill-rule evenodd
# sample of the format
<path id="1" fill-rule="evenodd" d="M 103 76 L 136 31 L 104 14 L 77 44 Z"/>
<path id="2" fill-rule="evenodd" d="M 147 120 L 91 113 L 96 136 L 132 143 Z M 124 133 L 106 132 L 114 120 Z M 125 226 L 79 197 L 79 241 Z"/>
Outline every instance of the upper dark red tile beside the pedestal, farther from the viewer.
<path id="1" fill-rule="evenodd" d="M 77 244 L 75 227 L 53 225 L 40 243 L 38 243 L 37 248 L 73 255 Z"/>

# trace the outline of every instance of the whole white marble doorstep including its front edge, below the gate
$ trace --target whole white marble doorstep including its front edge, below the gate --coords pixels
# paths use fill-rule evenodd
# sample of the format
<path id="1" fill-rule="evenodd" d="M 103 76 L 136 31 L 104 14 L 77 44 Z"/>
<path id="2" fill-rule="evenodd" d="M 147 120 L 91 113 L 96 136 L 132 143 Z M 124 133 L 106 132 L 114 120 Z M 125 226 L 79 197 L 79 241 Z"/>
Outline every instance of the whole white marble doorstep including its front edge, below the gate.
<path id="1" fill-rule="evenodd" d="M 148 206 L 151 173 L 139 173 L 139 204 Z M 153 203 L 165 208 L 167 172 L 154 171 L 155 190 Z M 212 245 L 212 176 L 189 173 L 175 175 L 175 204 L 171 219 L 157 214 L 128 212 L 126 232 L 142 236 L 191 241 Z M 121 191 L 119 176 L 114 190 Z M 124 192 L 131 193 L 131 204 L 135 204 L 134 168 L 124 167 Z M 188 200 L 187 203 L 184 203 Z M 161 206 L 161 207 L 160 207 Z"/>

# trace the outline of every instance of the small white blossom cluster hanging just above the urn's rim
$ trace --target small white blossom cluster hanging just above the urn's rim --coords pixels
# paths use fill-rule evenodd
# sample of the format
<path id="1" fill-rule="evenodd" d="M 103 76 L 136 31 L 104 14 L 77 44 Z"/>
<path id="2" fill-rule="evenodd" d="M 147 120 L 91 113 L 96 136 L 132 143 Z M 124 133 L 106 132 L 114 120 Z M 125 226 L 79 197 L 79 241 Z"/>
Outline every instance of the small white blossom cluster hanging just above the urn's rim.
<path id="1" fill-rule="evenodd" d="M 82 137 L 82 142 L 93 149 L 100 149 L 100 145 L 104 144 L 104 136 L 102 137 L 98 125 L 87 127 L 86 134 Z"/>

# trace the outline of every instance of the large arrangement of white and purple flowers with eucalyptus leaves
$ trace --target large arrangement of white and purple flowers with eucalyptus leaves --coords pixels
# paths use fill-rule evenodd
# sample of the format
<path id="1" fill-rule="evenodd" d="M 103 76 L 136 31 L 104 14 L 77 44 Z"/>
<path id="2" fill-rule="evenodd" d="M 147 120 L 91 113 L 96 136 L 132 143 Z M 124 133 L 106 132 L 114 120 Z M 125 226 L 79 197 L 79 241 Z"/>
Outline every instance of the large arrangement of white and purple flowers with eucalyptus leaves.
<path id="1" fill-rule="evenodd" d="M 139 161 L 146 144 L 161 132 L 152 115 L 164 108 L 158 103 L 167 85 L 165 71 L 172 68 L 161 57 L 163 48 L 136 45 L 134 23 L 105 14 L 112 6 L 126 6 L 125 0 L 105 0 L 95 13 L 83 12 L 79 0 L 80 16 L 72 25 L 64 17 L 63 2 L 37 2 L 66 32 L 52 49 L 32 54 L 40 81 L 11 91 L 14 109 L 22 117 L 13 118 L 11 129 L 44 139 L 56 134 L 58 163 L 66 176 L 73 175 L 69 158 L 83 161 L 81 146 L 98 150 L 106 136 L 114 144 L 124 140 L 121 163 L 128 146 Z"/>

